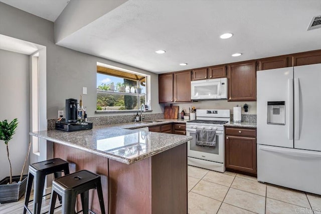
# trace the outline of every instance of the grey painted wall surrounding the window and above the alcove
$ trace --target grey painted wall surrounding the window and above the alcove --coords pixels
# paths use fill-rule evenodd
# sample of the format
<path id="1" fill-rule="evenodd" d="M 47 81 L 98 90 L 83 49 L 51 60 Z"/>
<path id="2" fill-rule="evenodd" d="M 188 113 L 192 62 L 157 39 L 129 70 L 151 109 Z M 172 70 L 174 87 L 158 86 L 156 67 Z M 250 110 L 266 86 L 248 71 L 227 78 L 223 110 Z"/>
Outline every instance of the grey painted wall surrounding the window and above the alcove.
<path id="1" fill-rule="evenodd" d="M 54 23 L 50 21 L 0 3 L 0 34 L 47 47 L 48 119 L 57 118 L 57 111 L 64 109 L 65 99 L 79 100 L 82 87 L 87 87 L 88 94 L 83 96 L 83 103 L 87 107 L 88 117 L 134 115 L 134 113 L 95 113 L 97 62 L 150 75 L 152 113 L 163 112 L 162 106 L 158 104 L 158 75 L 55 45 Z"/>

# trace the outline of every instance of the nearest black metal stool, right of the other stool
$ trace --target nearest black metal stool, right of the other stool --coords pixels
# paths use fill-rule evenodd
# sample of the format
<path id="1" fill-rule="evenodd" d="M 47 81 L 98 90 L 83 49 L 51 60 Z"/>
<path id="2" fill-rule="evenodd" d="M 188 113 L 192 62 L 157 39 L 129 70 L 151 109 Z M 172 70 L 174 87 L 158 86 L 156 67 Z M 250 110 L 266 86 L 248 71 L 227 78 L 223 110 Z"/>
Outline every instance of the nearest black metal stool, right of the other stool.
<path id="1" fill-rule="evenodd" d="M 89 189 L 97 189 L 100 211 L 105 214 L 100 176 L 88 170 L 77 171 L 54 179 L 49 213 L 54 213 L 57 195 L 62 196 L 62 213 L 74 213 L 77 195 L 80 194 L 82 212 L 87 214 L 89 210 Z"/>

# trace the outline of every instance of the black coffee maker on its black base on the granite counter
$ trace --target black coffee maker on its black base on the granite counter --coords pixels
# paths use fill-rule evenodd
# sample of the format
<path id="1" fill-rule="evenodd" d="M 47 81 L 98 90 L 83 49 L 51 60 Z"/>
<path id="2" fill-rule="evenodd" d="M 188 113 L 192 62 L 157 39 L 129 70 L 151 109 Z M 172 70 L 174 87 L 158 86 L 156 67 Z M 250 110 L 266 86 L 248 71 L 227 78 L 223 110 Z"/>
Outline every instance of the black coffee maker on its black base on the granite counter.
<path id="1" fill-rule="evenodd" d="M 77 100 L 66 100 L 66 118 L 56 121 L 56 129 L 63 131 L 81 131 L 92 129 L 92 122 L 77 121 Z"/>

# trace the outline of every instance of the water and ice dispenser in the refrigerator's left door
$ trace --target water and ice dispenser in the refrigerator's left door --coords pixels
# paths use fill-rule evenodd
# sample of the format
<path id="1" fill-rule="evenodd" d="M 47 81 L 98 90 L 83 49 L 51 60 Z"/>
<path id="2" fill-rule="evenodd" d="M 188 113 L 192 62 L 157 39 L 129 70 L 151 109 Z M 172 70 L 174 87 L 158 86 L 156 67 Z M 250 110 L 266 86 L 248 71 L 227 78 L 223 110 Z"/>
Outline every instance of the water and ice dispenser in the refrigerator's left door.
<path id="1" fill-rule="evenodd" d="M 285 125 L 285 101 L 267 102 L 267 124 Z"/>

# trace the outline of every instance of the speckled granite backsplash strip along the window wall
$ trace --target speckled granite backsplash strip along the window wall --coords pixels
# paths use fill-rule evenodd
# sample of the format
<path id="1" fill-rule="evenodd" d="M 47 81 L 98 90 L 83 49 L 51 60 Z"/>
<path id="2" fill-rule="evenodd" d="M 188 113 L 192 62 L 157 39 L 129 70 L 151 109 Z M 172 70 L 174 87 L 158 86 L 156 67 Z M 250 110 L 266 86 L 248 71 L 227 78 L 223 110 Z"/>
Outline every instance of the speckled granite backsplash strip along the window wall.
<path id="1" fill-rule="evenodd" d="M 154 120 L 164 118 L 164 113 L 144 114 L 144 120 Z M 93 126 L 109 125 L 115 123 L 133 122 L 135 115 L 113 115 L 113 116 L 98 116 L 88 117 L 88 121 L 93 123 Z M 48 130 L 54 130 L 56 126 L 56 119 L 48 119 Z"/>

